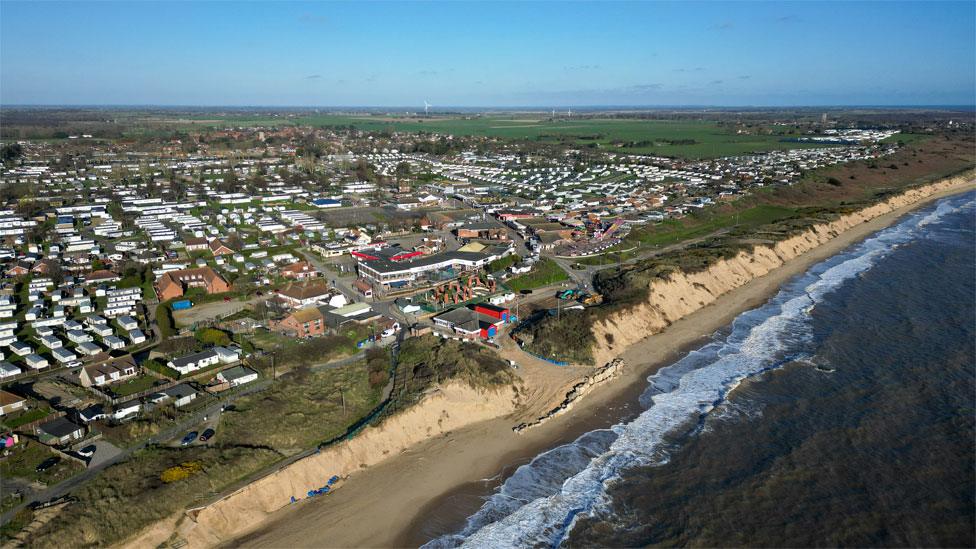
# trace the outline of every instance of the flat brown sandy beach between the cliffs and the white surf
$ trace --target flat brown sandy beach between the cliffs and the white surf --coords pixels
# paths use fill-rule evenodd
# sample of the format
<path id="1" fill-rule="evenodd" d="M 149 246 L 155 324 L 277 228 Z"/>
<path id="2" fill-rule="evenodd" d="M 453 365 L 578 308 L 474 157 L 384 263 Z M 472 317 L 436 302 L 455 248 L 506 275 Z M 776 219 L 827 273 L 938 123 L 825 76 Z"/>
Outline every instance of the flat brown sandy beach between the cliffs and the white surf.
<path id="1" fill-rule="evenodd" d="M 571 413 L 522 434 L 513 433 L 512 417 L 504 416 L 436 436 L 370 467 L 365 474 L 354 475 L 342 490 L 328 498 L 275 511 L 254 525 L 256 528 L 241 532 L 225 545 L 404 546 L 455 530 L 480 506 L 480 497 L 490 493 L 518 465 L 586 431 L 608 427 L 628 414 L 636 414 L 635 397 L 646 386 L 648 375 L 699 346 L 741 312 L 764 303 L 790 278 L 912 210 L 973 189 L 973 180 L 961 180 L 851 227 L 781 267 L 720 295 L 664 331 L 630 345 L 618 355 L 625 362 L 620 375 L 595 386 Z"/>

